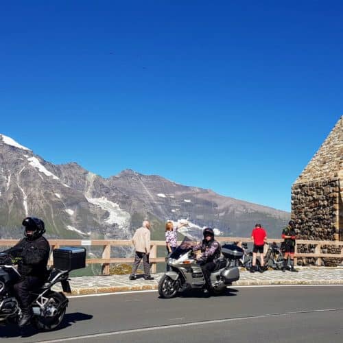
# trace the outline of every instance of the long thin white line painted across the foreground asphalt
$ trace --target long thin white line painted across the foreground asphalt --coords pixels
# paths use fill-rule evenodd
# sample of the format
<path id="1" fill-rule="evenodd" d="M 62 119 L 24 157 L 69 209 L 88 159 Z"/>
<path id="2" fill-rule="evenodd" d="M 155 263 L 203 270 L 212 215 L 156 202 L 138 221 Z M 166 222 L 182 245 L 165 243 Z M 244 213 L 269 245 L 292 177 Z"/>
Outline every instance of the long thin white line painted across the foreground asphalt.
<path id="1" fill-rule="evenodd" d="M 142 329 L 131 329 L 131 330 L 123 330 L 123 331 L 112 331 L 106 333 L 95 333 L 93 335 L 80 335 L 71 338 L 61 338 L 58 340 L 49 340 L 49 341 L 40 341 L 40 343 L 55 343 L 55 342 L 70 342 L 74 340 L 86 340 L 87 338 L 100 338 L 106 336 L 113 336 L 113 335 L 124 335 L 126 333 L 140 333 L 145 331 L 156 331 L 156 330 L 163 330 L 163 329 L 178 329 L 181 327 L 193 327 L 198 325 L 204 324 L 217 324 L 223 322 L 237 322 L 239 320 L 250 320 L 250 319 L 257 319 L 257 318 L 270 318 L 270 317 L 281 317 L 281 316 L 289 316 L 294 314 L 314 314 L 318 312 L 333 312 L 333 311 L 343 311 L 342 309 L 314 309 L 308 311 L 294 311 L 294 312 L 285 312 L 280 314 L 263 314 L 260 316 L 248 316 L 248 317 L 238 317 L 238 318 L 227 318 L 227 319 L 216 319 L 216 320 L 203 320 L 201 322 L 189 322 L 185 324 L 169 324 L 169 325 L 161 325 L 159 327 L 145 327 Z"/>

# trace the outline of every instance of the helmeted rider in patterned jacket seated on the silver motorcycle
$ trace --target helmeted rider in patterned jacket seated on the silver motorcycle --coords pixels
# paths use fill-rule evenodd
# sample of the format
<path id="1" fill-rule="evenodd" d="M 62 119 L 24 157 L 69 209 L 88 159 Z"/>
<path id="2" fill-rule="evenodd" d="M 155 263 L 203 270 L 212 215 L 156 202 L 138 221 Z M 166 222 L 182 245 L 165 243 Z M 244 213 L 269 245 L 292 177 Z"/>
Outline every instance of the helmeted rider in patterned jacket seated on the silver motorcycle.
<path id="1" fill-rule="evenodd" d="M 193 246 L 193 251 L 201 250 L 202 255 L 200 259 L 200 267 L 202 274 L 204 274 L 205 288 L 211 290 L 211 272 L 215 270 L 215 260 L 220 258 L 220 244 L 214 239 L 214 232 L 212 228 L 204 228 L 202 233 L 204 239 L 196 246 Z"/>

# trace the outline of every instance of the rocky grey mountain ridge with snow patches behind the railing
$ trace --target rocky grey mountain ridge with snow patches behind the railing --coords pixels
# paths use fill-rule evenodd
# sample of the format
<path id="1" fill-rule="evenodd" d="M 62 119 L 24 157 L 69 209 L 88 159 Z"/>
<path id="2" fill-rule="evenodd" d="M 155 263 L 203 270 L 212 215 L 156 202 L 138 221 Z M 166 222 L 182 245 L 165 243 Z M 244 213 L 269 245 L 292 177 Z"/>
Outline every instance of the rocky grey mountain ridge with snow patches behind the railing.
<path id="1" fill-rule="evenodd" d="M 76 163 L 54 165 L 0 134 L 0 238 L 20 237 L 21 220 L 41 217 L 48 237 L 126 239 L 141 221 L 164 235 L 165 220 L 189 218 L 224 235 L 247 236 L 255 222 L 279 235 L 289 213 L 178 185 L 130 169 L 102 178 Z"/>

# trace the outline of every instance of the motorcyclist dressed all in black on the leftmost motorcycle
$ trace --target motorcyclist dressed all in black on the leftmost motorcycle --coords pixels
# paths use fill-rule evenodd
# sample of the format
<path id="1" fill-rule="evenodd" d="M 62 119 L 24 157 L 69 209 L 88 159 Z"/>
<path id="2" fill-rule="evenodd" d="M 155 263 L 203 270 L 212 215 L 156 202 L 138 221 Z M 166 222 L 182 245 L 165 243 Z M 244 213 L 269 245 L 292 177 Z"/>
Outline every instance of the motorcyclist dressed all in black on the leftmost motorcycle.
<path id="1" fill-rule="evenodd" d="M 23 314 L 19 320 L 19 327 L 28 324 L 32 319 L 31 292 L 47 281 L 47 261 L 50 252 L 49 242 L 43 237 L 43 220 L 26 217 L 22 224 L 25 237 L 12 248 L 5 250 L 12 257 L 19 257 L 18 272 L 21 279 L 14 284 L 14 292 Z"/>

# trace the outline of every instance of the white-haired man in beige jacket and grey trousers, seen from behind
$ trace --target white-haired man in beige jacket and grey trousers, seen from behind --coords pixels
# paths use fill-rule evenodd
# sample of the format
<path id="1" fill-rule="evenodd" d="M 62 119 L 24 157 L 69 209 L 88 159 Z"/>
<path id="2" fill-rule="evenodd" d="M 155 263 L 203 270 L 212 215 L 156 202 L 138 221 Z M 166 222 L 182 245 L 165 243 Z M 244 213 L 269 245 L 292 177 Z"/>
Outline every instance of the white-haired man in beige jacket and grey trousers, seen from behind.
<path id="1" fill-rule="evenodd" d="M 132 243 L 134 245 L 134 263 L 132 265 L 132 272 L 129 276 L 130 280 L 136 280 L 136 272 L 139 267 L 139 263 L 143 260 L 144 279 L 154 280 L 150 275 L 151 265 L 149 263 L 150 255 L 150 222 L 144 220 L 142 226 L 137 228 L 132 237 Z"/>

